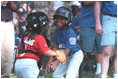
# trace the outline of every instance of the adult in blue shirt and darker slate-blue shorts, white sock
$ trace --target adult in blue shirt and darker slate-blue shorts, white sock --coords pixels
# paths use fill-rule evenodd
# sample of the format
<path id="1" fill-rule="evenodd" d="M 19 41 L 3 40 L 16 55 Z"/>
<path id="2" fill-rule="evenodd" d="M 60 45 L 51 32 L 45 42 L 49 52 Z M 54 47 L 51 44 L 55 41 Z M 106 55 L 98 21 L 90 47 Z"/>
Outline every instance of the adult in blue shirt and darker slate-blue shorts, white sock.
<path id="1" fill-rule="evenodd" d="M 80 15 L 80 40 L 81 47 L 85 53 L 92 53 L 96 48 L 96 77 L 101 73 L 101 57 L 102 46 L 101 36 L 95 30 L 95 17 L 94 17 L 94 4 L 95 1 L 81 1 L 81 15 Z"/>

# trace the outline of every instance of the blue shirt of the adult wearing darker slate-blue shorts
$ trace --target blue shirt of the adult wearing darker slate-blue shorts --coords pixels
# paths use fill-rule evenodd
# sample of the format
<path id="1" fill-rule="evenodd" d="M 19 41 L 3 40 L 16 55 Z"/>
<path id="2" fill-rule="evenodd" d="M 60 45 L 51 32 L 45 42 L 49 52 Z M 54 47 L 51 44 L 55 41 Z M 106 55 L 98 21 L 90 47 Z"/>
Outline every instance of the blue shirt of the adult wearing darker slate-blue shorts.
<path id="1" fill-rule="evenodd" d="M 83 3 L 83 1 L 81 1 Z M 101 16 L 102 19 L 102 16 Z M 102 21 L 102 20 L 101 20 Z M 80 15 L 80 27 L 95 27 L 94 3 L 91 5 L 82 5 Z"/>

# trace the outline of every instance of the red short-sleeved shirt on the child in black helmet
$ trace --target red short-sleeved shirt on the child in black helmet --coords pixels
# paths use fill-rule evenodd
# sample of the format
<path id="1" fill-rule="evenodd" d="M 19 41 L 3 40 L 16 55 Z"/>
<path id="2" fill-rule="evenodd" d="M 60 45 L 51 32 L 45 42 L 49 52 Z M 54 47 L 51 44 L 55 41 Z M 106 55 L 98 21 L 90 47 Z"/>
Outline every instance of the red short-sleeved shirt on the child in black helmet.
<path id="1" fill-rule="evenodd" d="M 31 50 L 39 53 L 40 55 L 50 50 L 50 48 L 47 46 L 45 38 L 42 35 L 36 35 L 32 40 L 27 40 L 27 38 L 28 38 L 27 36 L 24 38 L 25 50 Z M 22 43 L 18 48 L 18 52 L 20 52 L 21 50 L 22 50 Z M 38 62 L 40 61 L 40 57 L 32 53 L 23 53 L 23 54 L 19 53 L 16 56 L 16 58 L 17 59 L 31 58 L 37 60 Z"/>

